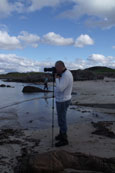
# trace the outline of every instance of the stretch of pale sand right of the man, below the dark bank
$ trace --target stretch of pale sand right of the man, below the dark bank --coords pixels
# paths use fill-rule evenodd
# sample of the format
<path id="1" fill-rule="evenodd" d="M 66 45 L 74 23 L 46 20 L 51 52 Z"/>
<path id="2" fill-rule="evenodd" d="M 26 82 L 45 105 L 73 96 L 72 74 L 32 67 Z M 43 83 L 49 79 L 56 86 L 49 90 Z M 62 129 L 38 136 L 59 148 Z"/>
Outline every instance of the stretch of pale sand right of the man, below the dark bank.
<path id="1" fill-rule="evenodd" d="M 92 107 L 99 112 L 115 114 L 115 82 L 78 81 L 74 82 L 72 104 Z"/>

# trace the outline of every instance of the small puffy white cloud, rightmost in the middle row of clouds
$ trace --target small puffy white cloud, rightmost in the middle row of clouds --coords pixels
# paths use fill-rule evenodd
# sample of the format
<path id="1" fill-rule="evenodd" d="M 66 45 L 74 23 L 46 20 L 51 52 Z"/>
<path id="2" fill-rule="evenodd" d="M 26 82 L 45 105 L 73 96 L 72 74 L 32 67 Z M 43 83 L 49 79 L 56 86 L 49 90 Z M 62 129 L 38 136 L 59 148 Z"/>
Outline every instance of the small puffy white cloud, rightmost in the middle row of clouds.
<path id="1" fill-rule="evenodd" d="M 86 45 L 93 45 L 94 44 L 94 41 L 93 39 L 85 34 L 81 34 L 77 39 L 76 39 L 76 42 L 75 42 L 75 47 L 84 47 Z"/>

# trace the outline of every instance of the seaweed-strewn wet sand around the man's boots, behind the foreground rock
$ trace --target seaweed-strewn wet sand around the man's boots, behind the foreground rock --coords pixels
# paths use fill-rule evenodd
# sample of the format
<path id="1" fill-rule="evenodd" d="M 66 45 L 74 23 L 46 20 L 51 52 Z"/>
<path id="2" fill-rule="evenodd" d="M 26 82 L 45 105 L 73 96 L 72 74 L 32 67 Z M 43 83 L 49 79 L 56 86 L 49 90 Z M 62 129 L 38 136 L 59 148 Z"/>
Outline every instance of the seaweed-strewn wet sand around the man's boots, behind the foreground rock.
<path id="1" fill-rule="evenodd" d="M 115 134 L 115 122 L 109 126 Z M 80 152 L 100 158 L 115 157 L 115 138 L 96 135 L 91 122 L 81 122 L 68 128 L 69 145 L 61 148 L 52 147 L 51 128 L 45 130 L 1 130 L 0 131 L 0 172 L 13 173 L 26 155 L 48 151 Z M 58 129 L 54 129 L 54 134 Z M 55 140 L 54 140 L 55 144 Z"/>

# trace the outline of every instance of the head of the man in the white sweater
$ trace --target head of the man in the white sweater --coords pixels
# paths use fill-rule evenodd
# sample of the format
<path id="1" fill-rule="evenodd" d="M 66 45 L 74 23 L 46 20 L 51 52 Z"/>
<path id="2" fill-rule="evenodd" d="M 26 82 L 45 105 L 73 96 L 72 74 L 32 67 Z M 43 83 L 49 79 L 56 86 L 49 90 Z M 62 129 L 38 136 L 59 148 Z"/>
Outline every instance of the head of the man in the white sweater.
<path id="1" fill-rule="evenodd" d="M 61 74 L 65 70 L 65 64 L 63 61 L 57 61 L 55 63 L 57 73 Z"/>

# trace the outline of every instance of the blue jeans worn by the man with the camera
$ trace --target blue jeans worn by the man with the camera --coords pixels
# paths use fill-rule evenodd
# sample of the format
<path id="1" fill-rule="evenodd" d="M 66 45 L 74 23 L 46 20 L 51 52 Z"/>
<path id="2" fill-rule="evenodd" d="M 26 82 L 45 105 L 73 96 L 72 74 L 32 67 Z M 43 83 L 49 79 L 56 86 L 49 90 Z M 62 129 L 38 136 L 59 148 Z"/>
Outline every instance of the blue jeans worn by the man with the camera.
<path id="1" fill-rule="evenodd" d="M 70 105 L 71 100 L 65 102 L 56 102 L 58 126 L 60 128 L 60 133 L 67 133 L 67 109 Z"/>

